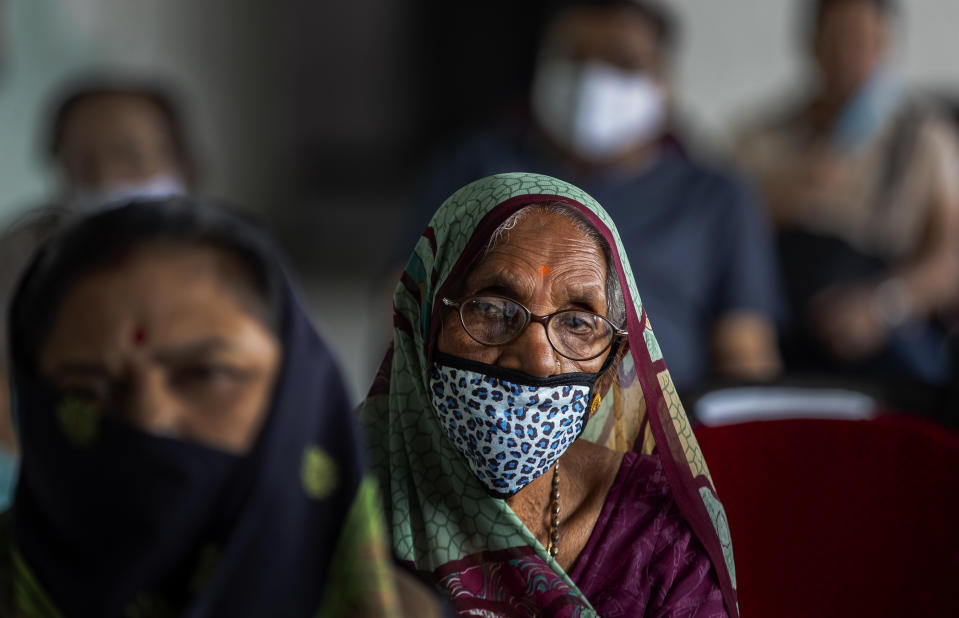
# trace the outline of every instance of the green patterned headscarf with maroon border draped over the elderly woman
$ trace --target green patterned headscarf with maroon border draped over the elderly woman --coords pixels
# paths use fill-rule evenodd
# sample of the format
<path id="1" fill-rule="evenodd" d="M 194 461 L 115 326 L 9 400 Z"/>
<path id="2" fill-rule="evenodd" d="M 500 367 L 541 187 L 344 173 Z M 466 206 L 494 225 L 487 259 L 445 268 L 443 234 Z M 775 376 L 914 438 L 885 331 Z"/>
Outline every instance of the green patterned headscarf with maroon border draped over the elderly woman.
<path id="1" fill-rule="evenodd" d="M 464 573 L 498 560 L 503 568 L 516 569 L 526 583 L 525 593 L 520 586 L 506 601 L 517 613 L 549 604 L 565 607 L 556 615 L 595 615 L 506 502 L 486 494 L 432 413 L 427 386 L 440 299 L 447 286 L 461 280 L 481 257 L 499 224 L 525 206 L 544 202 L 575 207 L 606 238 L 626 300 L 629 350 L 610 370 L 614 378 L 600 391 L 602 404 L 581 439 L 619 451 L 655 449 L 676 503 L 712 559 L 727 611 L 738 616 L 725 513 L 643 310 L 616 227 L 581 189 L 538 174 L 498 174 L 454 193 L 433 216 L 396 287 L 393 345 L 361 406 L 373 468 L 386 496 L 394 551 L 445 588 L 454 604 L 458 596 L 475 596 L 466 591 Z M 500 586 L 488 594 L 504 602 L 510 591 Z"/>

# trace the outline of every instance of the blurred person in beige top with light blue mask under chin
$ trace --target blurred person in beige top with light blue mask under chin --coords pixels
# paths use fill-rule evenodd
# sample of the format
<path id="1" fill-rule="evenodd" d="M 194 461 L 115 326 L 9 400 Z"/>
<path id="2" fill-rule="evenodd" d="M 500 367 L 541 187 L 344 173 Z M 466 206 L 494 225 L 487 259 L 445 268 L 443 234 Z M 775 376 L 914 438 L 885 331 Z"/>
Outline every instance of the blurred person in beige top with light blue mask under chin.
<path id="1" fill-rule="evenodd" d="M 808 100 L 745 132 L 738 158 L 779 229 L 794 368 L 949 378 L 933 319 L 959 293 L 953 125 L 890 66 L 892 0 L 814 0 Z"/>

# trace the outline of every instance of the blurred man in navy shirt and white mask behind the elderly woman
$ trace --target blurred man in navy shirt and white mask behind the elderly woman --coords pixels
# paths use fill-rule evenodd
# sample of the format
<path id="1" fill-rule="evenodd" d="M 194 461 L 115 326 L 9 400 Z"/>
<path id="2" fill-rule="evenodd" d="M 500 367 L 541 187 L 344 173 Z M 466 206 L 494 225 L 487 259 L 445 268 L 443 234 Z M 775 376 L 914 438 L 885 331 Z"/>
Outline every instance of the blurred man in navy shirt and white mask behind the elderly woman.
<path id="1" fill-rule="evenodd" d="M 573 181 L 616 221 L 681 389 L 716 376 L 771 378 L 782 305 L 771 239 L 737 180 L 669 138 L 676 37 L 671 14 L 652 2 L 558 2 L 545 22 L 531 116 L 440 153 L 411 224 L 418 235 L 427 207 L 489 174 Z"/>

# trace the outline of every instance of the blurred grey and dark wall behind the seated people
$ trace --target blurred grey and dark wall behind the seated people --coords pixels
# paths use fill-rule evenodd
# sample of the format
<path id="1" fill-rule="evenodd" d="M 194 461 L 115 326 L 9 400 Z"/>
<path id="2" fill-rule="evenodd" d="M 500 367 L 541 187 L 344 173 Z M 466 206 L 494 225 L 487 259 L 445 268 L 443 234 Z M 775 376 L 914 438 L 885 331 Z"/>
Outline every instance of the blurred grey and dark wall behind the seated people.
<path id="1" fill-rule="evenodd" d="M 53 195 L 40 145 L 50 97 L 65 80 L 106 71 L 159 78 L 184 105 L 202 192 L 253 208 L 275 227 L 357 396 L 382 352 L 384 263 L 423 161 L 522 104 L 544 5 L 6 2 L 0 223 Z M 681 107 L 721 152 L 752 109 L 801 83 L 800 3 L 667 4 L 681 20 Z M 959 88 L 959 2 L 903 5 L 907 78 Z"/>

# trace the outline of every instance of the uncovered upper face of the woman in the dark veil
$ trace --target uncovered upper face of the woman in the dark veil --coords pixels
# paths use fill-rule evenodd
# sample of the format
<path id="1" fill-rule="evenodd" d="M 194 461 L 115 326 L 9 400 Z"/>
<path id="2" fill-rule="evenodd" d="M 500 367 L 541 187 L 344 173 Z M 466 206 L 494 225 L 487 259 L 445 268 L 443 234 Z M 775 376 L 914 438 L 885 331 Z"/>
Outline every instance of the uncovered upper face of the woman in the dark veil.
<path id="1" fill-rule="evenodd" d="M 240 268 L 214 248 L 155 245 L 81 278 L 54 317 L 41 372 L 144 431 L 247 451 L 280 343 L 251 315 L 256 301 L 228 283 Z"/>

